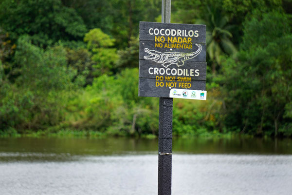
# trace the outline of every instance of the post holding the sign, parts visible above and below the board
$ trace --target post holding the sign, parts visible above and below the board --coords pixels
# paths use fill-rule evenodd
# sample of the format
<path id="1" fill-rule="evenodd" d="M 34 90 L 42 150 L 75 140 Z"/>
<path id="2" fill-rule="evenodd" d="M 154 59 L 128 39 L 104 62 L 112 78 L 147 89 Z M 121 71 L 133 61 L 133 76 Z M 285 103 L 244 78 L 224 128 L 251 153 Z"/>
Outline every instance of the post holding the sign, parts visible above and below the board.
<path id="1" fill-rule="evenodd" d="M 162 0 L 162 21 L 170 23 L 171 0 Z M 159 99 L 158 195 L 171 195 L 172 98 Z"/>

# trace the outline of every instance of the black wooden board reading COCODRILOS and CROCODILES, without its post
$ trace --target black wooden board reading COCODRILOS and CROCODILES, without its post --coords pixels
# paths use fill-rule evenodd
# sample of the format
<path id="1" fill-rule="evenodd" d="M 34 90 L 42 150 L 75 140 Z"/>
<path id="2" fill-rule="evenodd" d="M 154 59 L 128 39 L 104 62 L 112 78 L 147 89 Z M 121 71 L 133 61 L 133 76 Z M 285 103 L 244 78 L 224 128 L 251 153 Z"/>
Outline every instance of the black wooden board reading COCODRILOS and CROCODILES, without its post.
<path id="1" fill-rule="evenodd" d="M 206 65 L 205 25 L 140 22 L 139 96 L 205 99 Z"/>

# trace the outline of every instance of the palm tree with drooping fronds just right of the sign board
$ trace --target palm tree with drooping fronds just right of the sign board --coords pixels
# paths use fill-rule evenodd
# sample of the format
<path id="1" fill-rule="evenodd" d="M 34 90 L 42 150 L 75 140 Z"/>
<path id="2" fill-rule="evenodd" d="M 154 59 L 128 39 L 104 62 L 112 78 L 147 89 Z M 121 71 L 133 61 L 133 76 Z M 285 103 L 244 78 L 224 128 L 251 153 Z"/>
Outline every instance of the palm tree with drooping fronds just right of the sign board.
<path id="1" fill-rule="evenodd" d="M 228 17 L 222 16 L 221 11 L 216 8 L 206 6 L 206 20 L 197 20 L 196 23 L 202 22 L 206 24 L 206 42 L 207 54 L 212 61 L 212 72 L 216 73 L 217 65 L 220 65 L 220 56 L 229 54 L 234 56 L 237 53 L 237 48 L 232 43 L 232 34 L 230 30 L 234 25 L 228 24 Z"/>

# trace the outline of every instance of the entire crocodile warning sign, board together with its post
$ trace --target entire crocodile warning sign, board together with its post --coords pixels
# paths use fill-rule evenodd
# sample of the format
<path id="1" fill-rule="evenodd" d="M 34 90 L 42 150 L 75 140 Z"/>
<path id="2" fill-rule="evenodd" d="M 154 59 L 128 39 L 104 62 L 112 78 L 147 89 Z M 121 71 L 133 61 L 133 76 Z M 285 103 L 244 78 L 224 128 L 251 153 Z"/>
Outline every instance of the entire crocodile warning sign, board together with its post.
<path id="1" fill-rule="evenodd" d="M 159 97 L 158 195 L 171 195 L 172 98 L 206 100 L 206 25 L 140 21 L 139 97 Z"/>

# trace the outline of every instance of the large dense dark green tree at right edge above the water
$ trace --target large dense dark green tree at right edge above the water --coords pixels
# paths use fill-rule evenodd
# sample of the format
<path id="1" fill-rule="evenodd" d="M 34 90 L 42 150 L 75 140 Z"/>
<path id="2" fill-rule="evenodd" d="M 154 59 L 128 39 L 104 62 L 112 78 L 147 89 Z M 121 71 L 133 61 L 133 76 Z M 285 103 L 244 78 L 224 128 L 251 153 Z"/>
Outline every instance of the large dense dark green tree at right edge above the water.
<path id="1" fill-rule="evenodd" d="M 238 61 L 223 64 L 227 128 L 256 135 L 287 133 L 292 125 L 291 45 L 289 17 L 283 13 L 255 15 L 244 24 Z"/>

